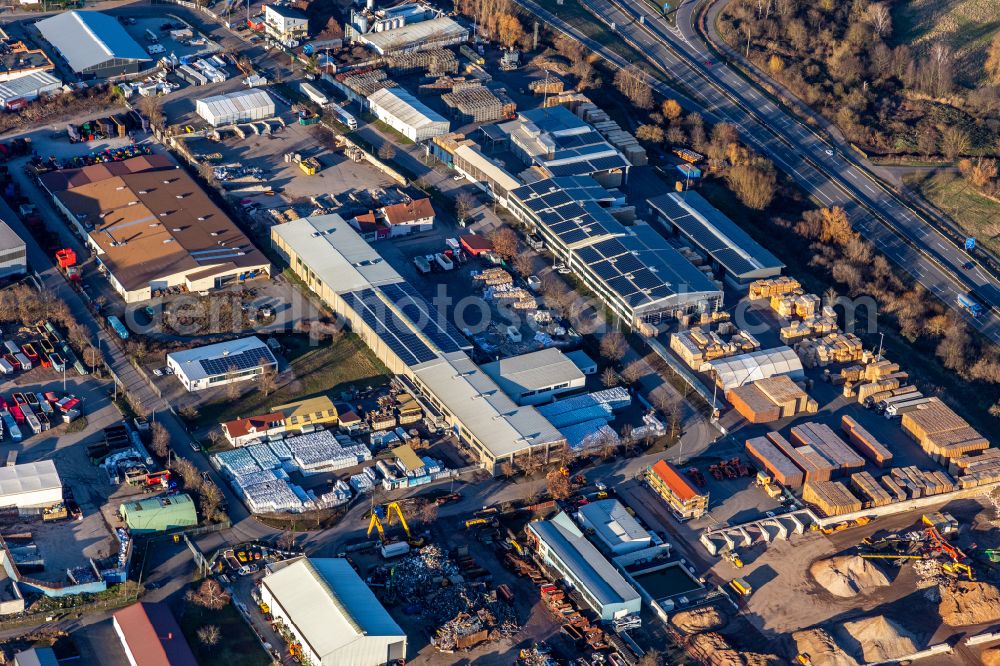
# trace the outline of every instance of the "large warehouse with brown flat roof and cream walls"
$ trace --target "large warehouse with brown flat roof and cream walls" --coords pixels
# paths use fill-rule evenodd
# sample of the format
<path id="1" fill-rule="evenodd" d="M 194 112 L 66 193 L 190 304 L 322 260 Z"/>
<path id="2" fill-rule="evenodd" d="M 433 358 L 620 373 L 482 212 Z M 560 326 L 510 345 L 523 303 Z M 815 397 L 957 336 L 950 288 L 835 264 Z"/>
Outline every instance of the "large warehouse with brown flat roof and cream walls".
<path id="1" fill-rule="evenodd" d="M 270 274 L 267 257 L 169 158 L 145 155 L 40 180 L 127 303 Z"/>

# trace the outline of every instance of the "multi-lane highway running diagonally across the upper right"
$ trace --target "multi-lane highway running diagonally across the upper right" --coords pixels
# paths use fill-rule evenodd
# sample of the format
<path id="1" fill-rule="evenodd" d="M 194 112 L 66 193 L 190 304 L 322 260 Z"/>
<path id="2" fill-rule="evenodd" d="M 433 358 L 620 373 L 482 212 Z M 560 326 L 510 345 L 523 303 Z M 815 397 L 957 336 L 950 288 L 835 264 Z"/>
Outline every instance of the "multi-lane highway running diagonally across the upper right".
<path id="1" fill-rule="evenodd" d="M 552 27 L 579 39 L 618 67 L 628 64 L 618 54 L 581 35 L 535 0 L 517 0 Z M 894 193 L 848 159 L 796 117 L 775 104 L 717 57 L 694 28 L 697 0 L 683 4 L 678 28 L 671 26 L 645 0 L 581 0 L 608 29 L 646 54 L 664 75 L 654 87 L 665 96 L 700 111 L 710 122 L 736 126 L 741 138 L 795 180 L 824 206 L 840 206 L 854 228 L 910 277 L 937 295 L 993 342 L 1000 342 L 1000 317 L 987 312 L 975 319 L 957 305 L 959 294 L 974 291 L 1000 308 L 1000 283 L 979 266 L 966 270 L 969 257 Z M 669 85 L 668 85 L 669 84 Z M 673 86 L 673 87 L 671 87 Z M 694 102 L 691 107 L 690 103 Z"/>

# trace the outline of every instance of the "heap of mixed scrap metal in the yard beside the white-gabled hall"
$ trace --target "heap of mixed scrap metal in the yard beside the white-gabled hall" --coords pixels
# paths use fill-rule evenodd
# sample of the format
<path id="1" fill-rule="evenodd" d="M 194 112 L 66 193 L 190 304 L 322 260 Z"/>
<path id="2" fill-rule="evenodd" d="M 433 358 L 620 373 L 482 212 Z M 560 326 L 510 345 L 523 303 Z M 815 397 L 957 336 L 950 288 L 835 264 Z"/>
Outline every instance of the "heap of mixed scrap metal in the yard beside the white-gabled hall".
<path id="1" fill-rule="evenodd" d="M 520 631 L 513 607 L 498 599 L 486 582 L 467 582 L 460 567 L 434 545 L 393 565 L 386 594 L 437 627 L 431 642 L 442 652 L 469 649 Z"/>

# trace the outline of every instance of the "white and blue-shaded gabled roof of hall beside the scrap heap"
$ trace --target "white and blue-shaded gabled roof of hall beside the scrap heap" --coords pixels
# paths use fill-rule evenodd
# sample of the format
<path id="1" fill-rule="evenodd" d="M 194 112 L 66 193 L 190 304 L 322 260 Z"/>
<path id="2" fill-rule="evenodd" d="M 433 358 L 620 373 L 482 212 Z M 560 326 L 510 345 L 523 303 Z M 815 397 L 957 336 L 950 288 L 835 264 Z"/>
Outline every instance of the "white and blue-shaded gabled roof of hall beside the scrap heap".
<path id="1" fill-rule="evenodd" d="M 406 638 L 345 559 L 303 557 L 264 585 L 321 659 L 365 636 Z"/>

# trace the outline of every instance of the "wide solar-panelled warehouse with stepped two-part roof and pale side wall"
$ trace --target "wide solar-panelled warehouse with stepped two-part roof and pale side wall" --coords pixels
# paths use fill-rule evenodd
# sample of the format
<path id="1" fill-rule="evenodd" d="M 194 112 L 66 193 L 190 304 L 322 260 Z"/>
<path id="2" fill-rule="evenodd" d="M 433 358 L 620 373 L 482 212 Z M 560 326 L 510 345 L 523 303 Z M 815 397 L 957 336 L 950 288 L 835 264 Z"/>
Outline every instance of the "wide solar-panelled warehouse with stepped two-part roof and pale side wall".
<path id="1" fill-rule="evenodd" d="M 722 289 L 648 224 L 619 222 L 613 201 L 593 178 L 563 176 L 513 190 L 507 205 L 630 327 L 718 310 Z"/>

